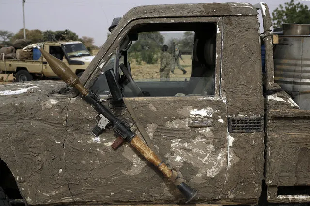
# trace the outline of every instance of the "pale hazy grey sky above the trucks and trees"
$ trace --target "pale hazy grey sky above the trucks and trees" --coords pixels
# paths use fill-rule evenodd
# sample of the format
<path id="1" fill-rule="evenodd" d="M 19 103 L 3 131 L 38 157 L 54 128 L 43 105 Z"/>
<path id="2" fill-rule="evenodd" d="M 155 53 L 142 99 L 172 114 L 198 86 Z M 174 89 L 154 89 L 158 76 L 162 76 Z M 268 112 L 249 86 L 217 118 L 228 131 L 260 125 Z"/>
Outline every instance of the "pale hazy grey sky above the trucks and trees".
<path id="1" fill-rule="evenodd" d="M 129 9 L 140 5 L 173 3 L 248 2 L 258 0 L 26 0 L 27 29 L 65 30 L 94 38 L 101 46 L 107 37 L 113 18 L 122 17 Z M 265 0 L 274 10 L 286 0 Z M 297 1 L 310 7 L 310 1 Z M 0 0 L 0 30 L 18 32 L 23 28 L 22 0 Z"/>

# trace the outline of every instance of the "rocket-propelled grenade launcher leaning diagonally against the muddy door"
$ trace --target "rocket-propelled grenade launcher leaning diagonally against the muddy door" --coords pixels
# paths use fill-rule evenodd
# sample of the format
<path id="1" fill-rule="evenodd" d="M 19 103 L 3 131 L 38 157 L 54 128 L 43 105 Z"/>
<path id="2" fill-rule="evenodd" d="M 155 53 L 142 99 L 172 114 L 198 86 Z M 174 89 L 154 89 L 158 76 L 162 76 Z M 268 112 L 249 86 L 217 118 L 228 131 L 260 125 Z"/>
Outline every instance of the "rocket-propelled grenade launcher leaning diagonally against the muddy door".
<path id="1" fill-rule="evenodd" d="M 50 55 L 39 48 L 44 58 L 49 63 L 55 74 L 59 76 L 70 87 L 75 87 L 81 93 L 83 99 L 91 104 L 94 109 L 101 116 L 107 119 L 114 132 L 116 132 L 122 139 L 129 142 L 147 161 L 156 166 L 170 182 L 172 182 L 179 191 L 185 196 L 186 203 L 191 201 L 197 194 L 197 191 L 189 187 L 182 178 L 178 176 L 175 170 L 170 169 L 156 154 L 152 151 L 134 132 L 131 131 L 128 124 L 124 121 L 116 118 L 110 110 L 100 103 L 100 98 L 92 93 L 90 90 L 84 88 L 80 83 L 79 77 L 77 77 L 72 70 L 61 60 Z"/>

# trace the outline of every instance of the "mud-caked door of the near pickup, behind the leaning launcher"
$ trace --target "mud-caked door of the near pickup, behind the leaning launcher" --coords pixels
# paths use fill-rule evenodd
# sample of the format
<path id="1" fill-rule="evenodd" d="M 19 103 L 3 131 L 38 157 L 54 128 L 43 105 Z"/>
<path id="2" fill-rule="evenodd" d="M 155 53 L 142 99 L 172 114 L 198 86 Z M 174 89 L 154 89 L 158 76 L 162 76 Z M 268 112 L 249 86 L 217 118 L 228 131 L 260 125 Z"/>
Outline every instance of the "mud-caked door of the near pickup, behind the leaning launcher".
<path id="1" fill-rule="evenodd" d="M 170 19 L 169 24 L 166 19 L 149 20 L 157 22 L 154 25 L 135 21 L 134 24 L 140 27 L 132 27 L 127 37 L 113 44 L 111 52 L 98 64 L 103 71 L 114 68 L 123 87 L 124 107 L 113 106 L 114 103 L 107 99 L 109 90 L 105 87 L 103 72 L 96 77 L 91 89 L 117 117 L 129 122 L 131 129 L 143 133 L 145 138 L 147 133 L 161 158 L 199 190 L 200 200 L 207 201 L 221 197 L 228 168 L 226 98 L 219 95 L 222 19 L 187 19 L 189 23 Z M 134 38 L 137 34 L 138 40 Z M 173 51 L 185 50 L 181 43 L 176 42 L 172 48 L 168 42 L 170 38 L 182 35 L 190 40 L 187 46 L 190 52 L 183 53 L 182 59 L 175 56 L 172 62 L 171 50 L 165 54 L 165 60 L 163 55 L 157 56 L 161 49 L 159 44 L 168 44 Z M 131 45 L 130 50 L 127 50 L 128 45 Z M 146 52 L 141 52 L 141 48 Z M 161 69 L 170 77 L 161 76 L 163 63 L 175 64 L 173 74 L 171 66 Z M 120 65 L 123 69 L 126 65 L 131 71 L 132 83 L 143 91 L 144 96 L 135 95 Z M 130 199 L 140 202 L 181 198 L 179 191 L 165 182 L 130 146 L 125 144 L 112 150 L 111 144 L 115 140 L 112 130 L 93 137 L 90 130 L 94 126 L 95 112 L 90 111 L 92 108 L 79 98 L 72 99 L 68 107 L 67 129 L 71 132 L 64 144 L 66 177 L 74 196 L 87 196 L 95 201 L 104 198 L 104 201 Z M 94 188 L 96 192 L 93 192 Z"/>

